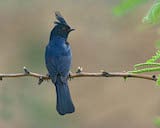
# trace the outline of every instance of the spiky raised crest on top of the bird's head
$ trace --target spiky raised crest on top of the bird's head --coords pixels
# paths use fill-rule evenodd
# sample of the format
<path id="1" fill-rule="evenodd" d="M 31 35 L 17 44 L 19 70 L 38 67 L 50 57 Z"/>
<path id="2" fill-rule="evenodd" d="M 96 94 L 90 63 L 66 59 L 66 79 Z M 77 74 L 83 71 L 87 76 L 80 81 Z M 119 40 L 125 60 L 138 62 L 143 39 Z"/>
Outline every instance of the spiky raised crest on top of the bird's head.
<path id="1" fill-rule="evenodd" d="M 56 19 L 58 20 L 54 22 L 55 24 L 63 24 L 68 26 L 67 22 L 65 21 L 65 19 L 63 18 L 63 16 L 59 11 L 55 12 L 55 16 L 56 16 Z"/>

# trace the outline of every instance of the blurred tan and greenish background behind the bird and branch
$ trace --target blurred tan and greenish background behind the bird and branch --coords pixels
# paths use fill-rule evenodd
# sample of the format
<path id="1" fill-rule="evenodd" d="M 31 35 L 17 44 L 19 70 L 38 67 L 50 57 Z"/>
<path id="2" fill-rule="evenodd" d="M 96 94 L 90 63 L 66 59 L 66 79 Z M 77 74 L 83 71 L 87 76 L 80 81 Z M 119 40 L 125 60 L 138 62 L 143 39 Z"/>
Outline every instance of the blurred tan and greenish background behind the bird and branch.
<path id="1" fill-rule="evenodd" d="M 156 51 L 158 27 L 142 24 L 153 1 L 124 16 L 113 8 L 120 0 L 0 0 L 0 73 L 29 70 L 46 74 L 45 46 L 60 11 L 76 29 L 68 41 L 72 71 L 123 72 Z M 54 85 L 35 78 L 0 82 L 0 128 L 154 128 L 160 115 L 160 89 L 152 81 L 77 78 L 69 82 L 74 114 L 56 112 Z"/>

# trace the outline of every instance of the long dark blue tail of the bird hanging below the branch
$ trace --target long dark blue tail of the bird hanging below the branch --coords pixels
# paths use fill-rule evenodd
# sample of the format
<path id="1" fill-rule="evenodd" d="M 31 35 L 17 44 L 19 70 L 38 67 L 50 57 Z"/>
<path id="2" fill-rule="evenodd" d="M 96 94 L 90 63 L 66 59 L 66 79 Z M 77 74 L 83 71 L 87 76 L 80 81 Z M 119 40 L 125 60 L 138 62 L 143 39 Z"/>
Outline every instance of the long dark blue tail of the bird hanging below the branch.
<path id="1" fill-rule="evenodd" d="M 68 82 L 62 82 L 60 78 L 57 77 L 56 83 L 57 92 L 57 106 L 56 109 L 60 115 L 65 115 L 67 113 L 73 113 L 75 111 L 72 99 L 70 96 L 70 91 L 68 87 Z"/>

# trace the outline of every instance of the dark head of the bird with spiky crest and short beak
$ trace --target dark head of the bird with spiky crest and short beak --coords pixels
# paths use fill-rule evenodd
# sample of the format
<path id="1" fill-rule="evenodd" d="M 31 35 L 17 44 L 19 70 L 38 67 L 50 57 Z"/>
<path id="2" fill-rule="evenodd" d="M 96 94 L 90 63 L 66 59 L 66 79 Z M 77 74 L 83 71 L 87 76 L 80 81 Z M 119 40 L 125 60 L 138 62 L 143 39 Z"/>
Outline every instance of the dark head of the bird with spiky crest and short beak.
<path id="1" fill-rule="evenodd" d="M 53 28 L 53 30 L 51 31 L 51 35 L 50 35 L 50 40 L 53 38 L 53 36 L 60 36 L 63 37 L 65 39 L 67 39 L 68 34 L 75 30 L 72 29 L 67 22 L 64 20 L 64 18 L 62 17 L 62 15 L 60 14 L 60 12 L 55 12 L 56 15 L 56 19 L 58 21 L 55 21 L 54 23 L 56 24 L 55 27 Z"/>

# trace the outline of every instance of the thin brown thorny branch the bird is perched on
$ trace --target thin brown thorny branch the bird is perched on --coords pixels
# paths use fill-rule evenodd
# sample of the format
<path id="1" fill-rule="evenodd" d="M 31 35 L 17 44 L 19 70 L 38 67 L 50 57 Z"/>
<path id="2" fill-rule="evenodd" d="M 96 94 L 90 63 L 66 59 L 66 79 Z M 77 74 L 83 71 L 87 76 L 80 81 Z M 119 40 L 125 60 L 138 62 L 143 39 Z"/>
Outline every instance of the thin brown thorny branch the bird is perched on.
<path id="1" fill-rule="evenodd" d="M 26 67 L 23 68 L 23 73 L 13 73 L 13 74 L 0 74 L 0 80 L 3 78 L 15 78 L 15 77 L 26 77 L 31 76 L 38 78 L 38 84 L 41 84 L 44 80 L 49 80 L 49 75 L 41 75 L 38 73 L 34 73 L 29 71 Z M 147 79 L 152 81 L 157 81 L 157 77 L 155 75 L 145 75 L 145 74 L 133 74 L 128 72 L 98 72 L 98 73 L 89 73 L 83 72 L 81 67 L 78 67 L 76 73 L 70 73 L 69 78 L 77 78 L 77 77 L 122 77 L 126 78 L 140 78 L 140 79 Z"/>

